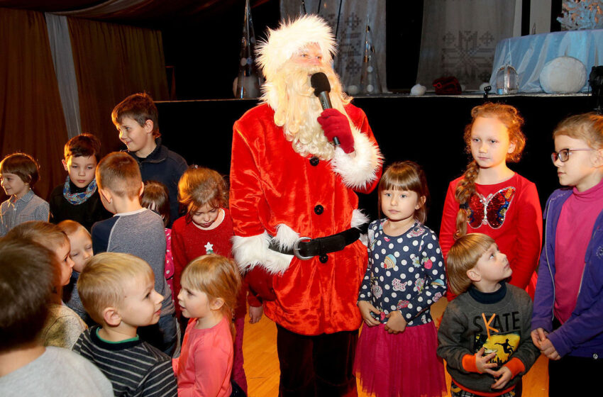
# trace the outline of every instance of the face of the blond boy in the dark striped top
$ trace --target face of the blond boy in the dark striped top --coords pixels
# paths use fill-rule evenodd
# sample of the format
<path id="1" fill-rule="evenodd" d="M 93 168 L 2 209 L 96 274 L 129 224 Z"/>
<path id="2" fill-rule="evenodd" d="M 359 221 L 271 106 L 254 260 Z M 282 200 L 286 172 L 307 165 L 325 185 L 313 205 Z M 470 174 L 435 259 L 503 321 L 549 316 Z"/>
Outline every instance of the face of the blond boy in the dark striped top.
<path id="1" fill-rule="evenodd" d="M 126 281 L 125 296 L 118 308 L 121 322 L 131 328 L 156 324 L 161 315 L 163 296 L 155 291 L 155 281 L 140 275 Z"/>

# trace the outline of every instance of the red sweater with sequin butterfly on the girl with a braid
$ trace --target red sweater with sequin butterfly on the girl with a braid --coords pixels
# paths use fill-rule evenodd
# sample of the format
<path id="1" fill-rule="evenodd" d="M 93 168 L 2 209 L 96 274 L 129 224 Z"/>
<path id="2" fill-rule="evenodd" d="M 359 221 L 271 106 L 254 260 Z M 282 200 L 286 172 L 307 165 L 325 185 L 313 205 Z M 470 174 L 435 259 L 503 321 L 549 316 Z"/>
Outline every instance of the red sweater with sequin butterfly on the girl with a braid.
<path id="1" fill-rule="evenodd" d="M 444 259 L 454 244 L 458 202 L 455 189 L 463 177 L 450 182 L 440 228 L 440 247 Z M 536 185 L 528 179 L 514 174 L 511 179 L 493 185 L 475 184 L 470 199 L 471 215 L 468 217 L 467 233 L 484 233 L 492 237 L 499 250 L 507 255 L 513 275 L 509 284 L 526 289 L 538 266 L 542 245 L 542 210 Z M 484 215 L 484 203 L 486 215 Z M 508 207 L 505 211 L 505 206 Z M 536 287 L 532 280 L 530 296 Z"/>

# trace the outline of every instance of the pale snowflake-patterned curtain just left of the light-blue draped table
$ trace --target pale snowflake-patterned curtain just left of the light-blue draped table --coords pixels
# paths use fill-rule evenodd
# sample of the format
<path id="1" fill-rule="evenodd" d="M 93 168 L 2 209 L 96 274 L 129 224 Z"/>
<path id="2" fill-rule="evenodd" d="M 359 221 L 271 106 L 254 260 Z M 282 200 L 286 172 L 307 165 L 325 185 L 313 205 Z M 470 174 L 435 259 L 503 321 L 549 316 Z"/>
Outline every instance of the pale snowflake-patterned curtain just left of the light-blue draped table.
<path id="1" fill-rule="evenodd" d="M 433 80 L 454 76 L 465 90 L 479 89 L 497 43 L 513 36 L 515 14 L 516 0 L 425 0 L 416 82 L 433 90 Z"/>

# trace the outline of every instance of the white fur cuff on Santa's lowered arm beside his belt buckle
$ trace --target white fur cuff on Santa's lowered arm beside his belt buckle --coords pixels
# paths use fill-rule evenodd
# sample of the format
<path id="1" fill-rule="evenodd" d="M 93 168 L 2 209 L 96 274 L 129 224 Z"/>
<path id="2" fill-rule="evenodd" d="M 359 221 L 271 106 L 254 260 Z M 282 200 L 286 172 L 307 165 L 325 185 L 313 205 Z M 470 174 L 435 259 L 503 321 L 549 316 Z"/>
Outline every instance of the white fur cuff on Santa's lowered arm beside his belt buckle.
<path id="1" fill-rule="evenodd" d="M 270 235 L 266 232 L 251 237 L 234 236 L 233 255 L 241 272 L 256 266 L 261 266 L 272 274 L 282 274 L 289 269 L 293 255 L 270 250 L 269 245 Z"/>

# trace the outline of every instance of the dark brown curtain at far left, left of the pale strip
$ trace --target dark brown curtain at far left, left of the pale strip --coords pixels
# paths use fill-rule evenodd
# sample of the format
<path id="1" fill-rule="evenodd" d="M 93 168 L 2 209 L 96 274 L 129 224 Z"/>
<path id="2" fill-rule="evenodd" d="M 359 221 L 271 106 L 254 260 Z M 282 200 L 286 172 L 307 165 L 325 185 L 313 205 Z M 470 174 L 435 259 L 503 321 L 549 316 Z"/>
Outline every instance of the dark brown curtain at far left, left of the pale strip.
<path id="1" fill-rule="evenodd" d="M 67 128 L 44 14 L 0 9 L 0 37 L 0 154 L 33 155 L 41 166 L 34 191 L 48 198 L 65 178 L 60 160 Z"/>

